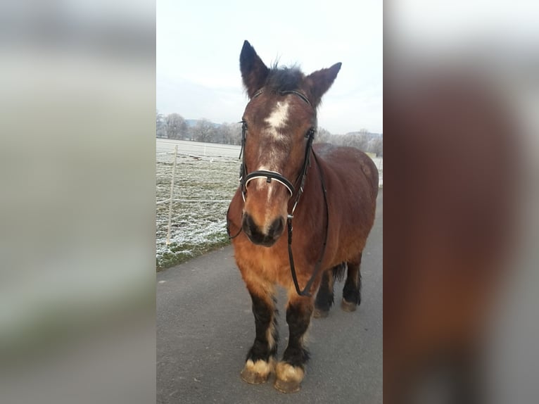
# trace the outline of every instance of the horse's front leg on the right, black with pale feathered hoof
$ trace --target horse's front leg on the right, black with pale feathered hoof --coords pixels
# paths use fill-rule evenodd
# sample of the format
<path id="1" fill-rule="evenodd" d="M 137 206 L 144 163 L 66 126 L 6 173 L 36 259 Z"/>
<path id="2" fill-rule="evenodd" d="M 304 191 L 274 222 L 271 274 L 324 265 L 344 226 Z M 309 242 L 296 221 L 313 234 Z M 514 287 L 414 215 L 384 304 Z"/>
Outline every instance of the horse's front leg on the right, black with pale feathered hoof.
<path id="1" fill-rule="evenodd" d="M 295 291 L 293 293 L 296 293 Z M 300 384 L 305 375 L 305 363 L 309 353 L 304 346 L 304 337 L 309 328 L 314 298 L 292 295 L 286 307 L 286 322 L 288 323 L 288 346 L 283 359 L 277 363 L 275 389 L 283 393 L 293 393 L 300 390 Z"/>

